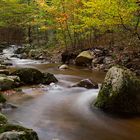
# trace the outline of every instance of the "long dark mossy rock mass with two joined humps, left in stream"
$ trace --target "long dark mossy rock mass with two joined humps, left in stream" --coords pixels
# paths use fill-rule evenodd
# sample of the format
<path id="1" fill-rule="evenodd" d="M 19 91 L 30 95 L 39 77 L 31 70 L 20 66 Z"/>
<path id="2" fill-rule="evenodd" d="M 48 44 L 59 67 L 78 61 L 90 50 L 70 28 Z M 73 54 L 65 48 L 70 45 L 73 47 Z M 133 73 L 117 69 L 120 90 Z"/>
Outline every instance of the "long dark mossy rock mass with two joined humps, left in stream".
<path id="1" fill-rule="evenodd" d="M 58 82 L 53 74 L 44 74 L 34 68 L 20 68 L 13 72 L 12 75 L 19 76 L 24 84 L 50 84 Z"/>

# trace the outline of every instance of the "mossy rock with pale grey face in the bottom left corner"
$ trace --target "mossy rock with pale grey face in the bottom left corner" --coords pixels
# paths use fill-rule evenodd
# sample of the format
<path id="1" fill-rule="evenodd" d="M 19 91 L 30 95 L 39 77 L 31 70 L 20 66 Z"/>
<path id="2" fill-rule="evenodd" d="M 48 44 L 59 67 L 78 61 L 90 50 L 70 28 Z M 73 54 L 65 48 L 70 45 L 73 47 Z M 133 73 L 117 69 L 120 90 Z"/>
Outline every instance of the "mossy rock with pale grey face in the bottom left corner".
<path id="1" fill-rule="evenodd" d="M 6 124 L 0 128 L 0 139 L 39 140 L 37 133 L 19 125 Z"/>

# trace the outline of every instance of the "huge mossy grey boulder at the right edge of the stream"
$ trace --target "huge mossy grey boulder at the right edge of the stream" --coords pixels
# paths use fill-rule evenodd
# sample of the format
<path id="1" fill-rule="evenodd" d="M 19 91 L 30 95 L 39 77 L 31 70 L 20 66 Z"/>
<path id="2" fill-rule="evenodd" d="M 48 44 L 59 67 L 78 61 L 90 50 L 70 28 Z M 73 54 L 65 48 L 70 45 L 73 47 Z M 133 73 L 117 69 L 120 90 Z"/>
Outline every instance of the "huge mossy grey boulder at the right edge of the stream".
<path id="1" fill-rule="evenodd" d="M 118 113 L 140 113 L 140 80 L 126 68 L 112 67 L 92 106 Z"/>

